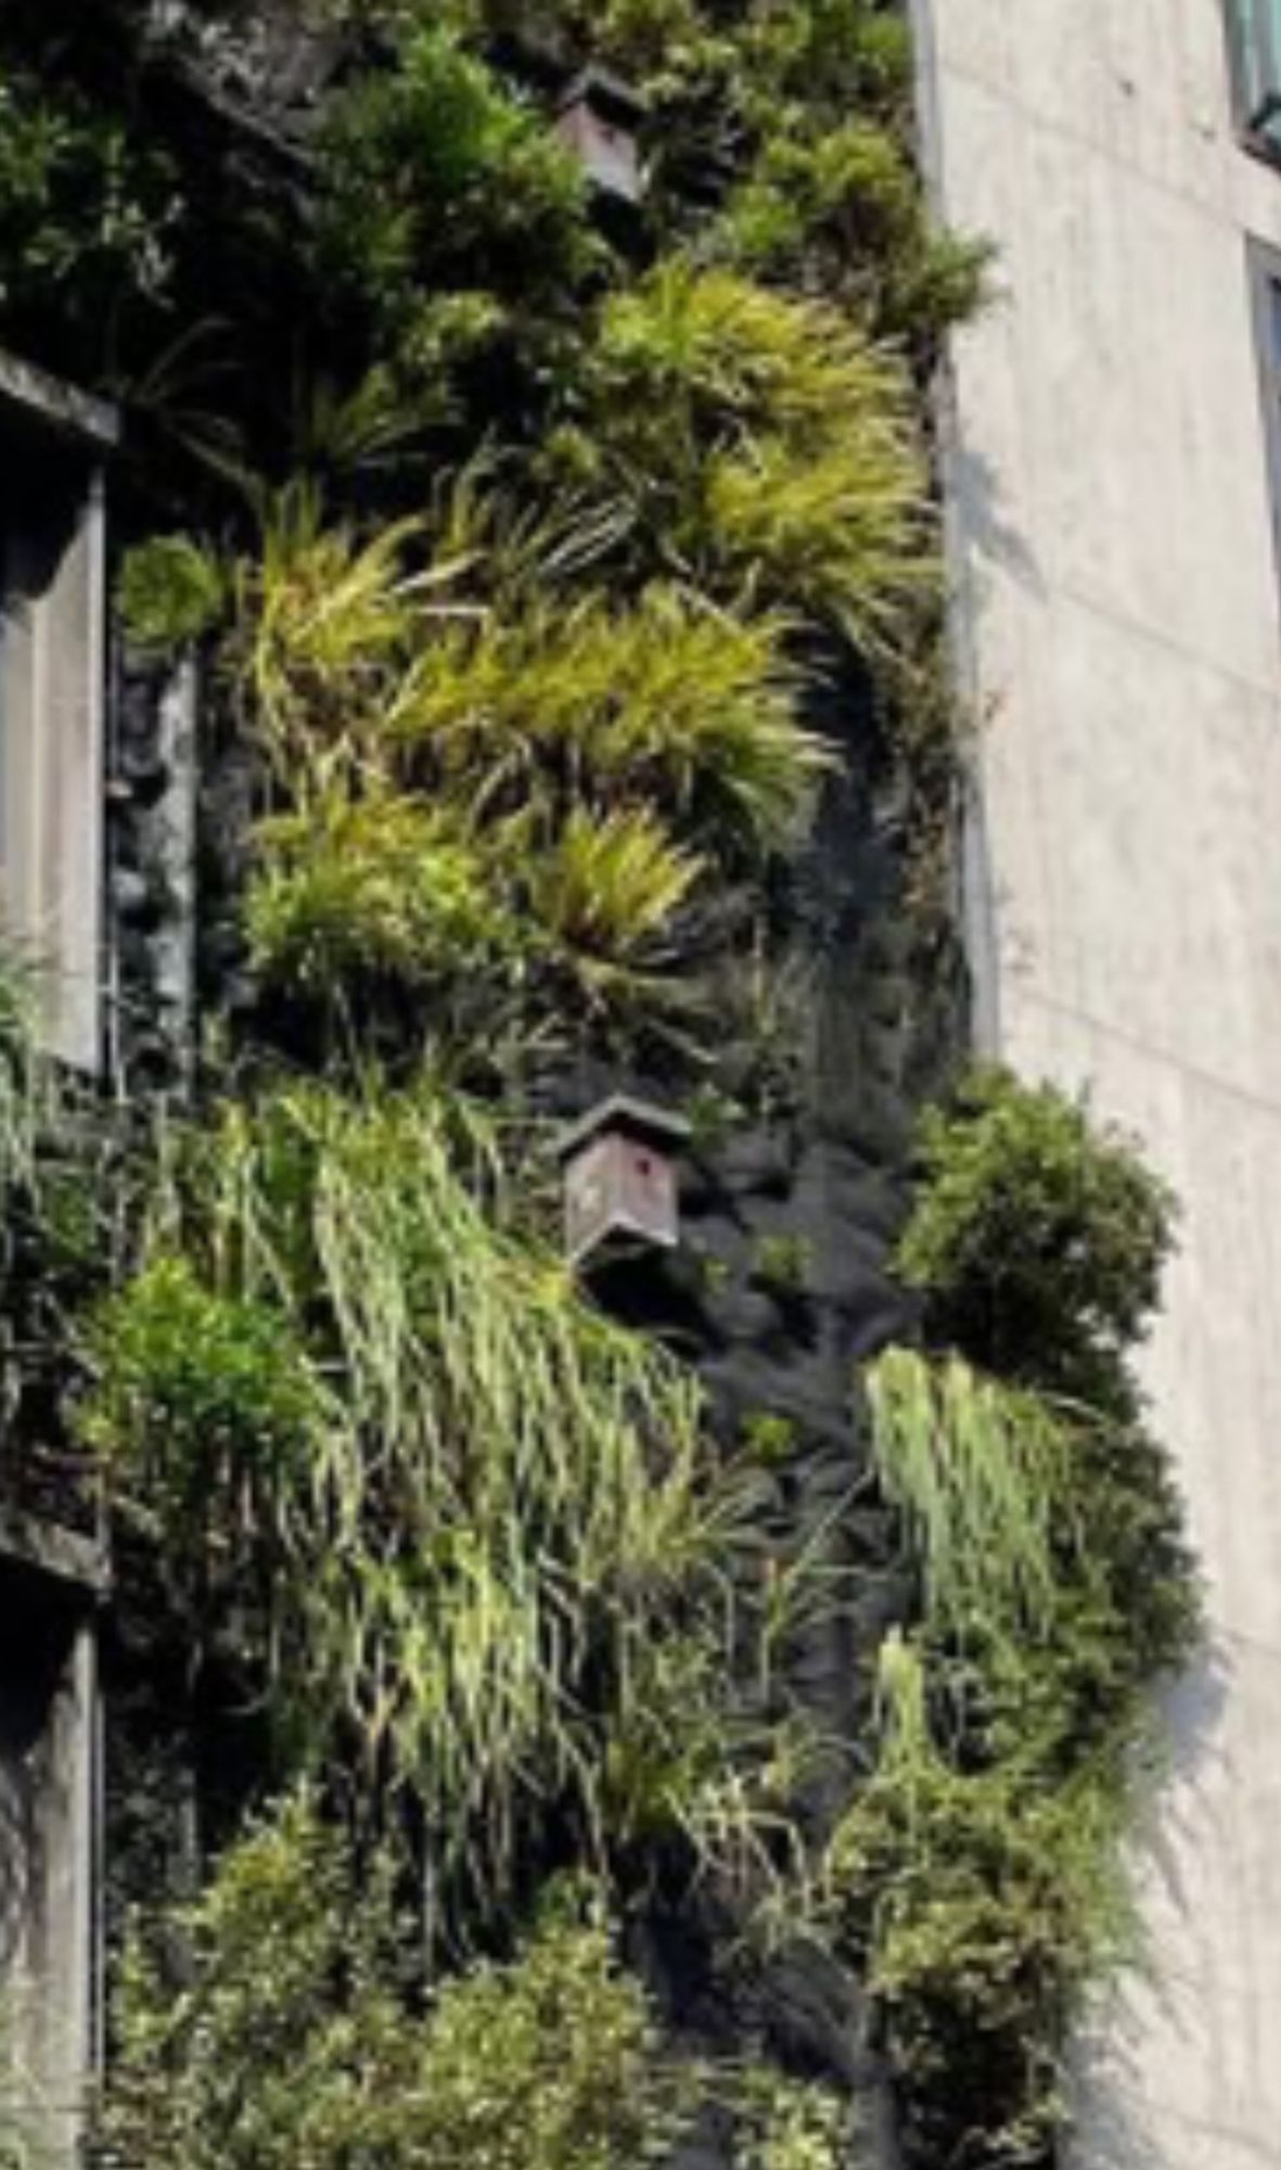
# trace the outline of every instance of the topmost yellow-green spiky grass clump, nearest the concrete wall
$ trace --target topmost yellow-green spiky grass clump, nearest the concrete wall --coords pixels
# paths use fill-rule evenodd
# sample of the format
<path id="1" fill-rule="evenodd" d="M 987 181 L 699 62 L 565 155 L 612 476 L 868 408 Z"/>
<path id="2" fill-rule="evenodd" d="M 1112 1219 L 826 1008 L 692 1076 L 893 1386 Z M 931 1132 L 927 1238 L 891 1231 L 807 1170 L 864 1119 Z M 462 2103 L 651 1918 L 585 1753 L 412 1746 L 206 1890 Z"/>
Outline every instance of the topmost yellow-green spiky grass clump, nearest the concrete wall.
<path id="1" fill-rule="evenodd" d="M 934 577 L 910 380 L 849 317 L 671 258 L 606 304 L 593 371 L 584 427 L 688 577 L 860 647 L 905 623 Z"/>

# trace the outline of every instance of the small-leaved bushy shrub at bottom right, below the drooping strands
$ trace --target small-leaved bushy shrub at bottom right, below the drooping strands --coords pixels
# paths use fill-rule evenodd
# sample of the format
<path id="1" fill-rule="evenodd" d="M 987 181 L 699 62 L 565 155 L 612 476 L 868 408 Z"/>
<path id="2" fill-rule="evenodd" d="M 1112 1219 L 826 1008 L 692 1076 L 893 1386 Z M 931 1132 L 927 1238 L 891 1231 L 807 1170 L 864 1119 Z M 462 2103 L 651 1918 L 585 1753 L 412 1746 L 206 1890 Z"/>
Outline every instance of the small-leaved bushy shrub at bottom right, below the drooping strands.
<path id="1" fill-rule="evenodd" d="M 966 1769 L 901 1645 L 886 1651 L 884 1725 L 829 1890 L 834 1933 L 877 1999 L 910 2157 L 1047 2161 L 1070 2031 L 1136 1951 L 1114 1775 Z"/>

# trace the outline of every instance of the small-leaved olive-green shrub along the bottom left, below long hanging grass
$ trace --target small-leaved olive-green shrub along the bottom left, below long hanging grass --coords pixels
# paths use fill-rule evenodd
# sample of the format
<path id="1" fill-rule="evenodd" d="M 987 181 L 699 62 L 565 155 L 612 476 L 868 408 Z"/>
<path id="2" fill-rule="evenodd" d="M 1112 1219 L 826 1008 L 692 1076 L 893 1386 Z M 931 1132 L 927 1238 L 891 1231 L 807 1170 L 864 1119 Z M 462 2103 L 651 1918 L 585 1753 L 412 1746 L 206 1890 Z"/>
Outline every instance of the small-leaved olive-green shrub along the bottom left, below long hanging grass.
<path id="1" fill-rule="evenodd" d="M 356 1866 L 293 1799 L 163 1936 L 135 1938 L 102 2155 L 130 2170 L 638 2170 L 667 2157 L 688 2094 L 588 1894 L 549 1905 L 510 1964 L 410 2001 L 386 1862 Z"/>

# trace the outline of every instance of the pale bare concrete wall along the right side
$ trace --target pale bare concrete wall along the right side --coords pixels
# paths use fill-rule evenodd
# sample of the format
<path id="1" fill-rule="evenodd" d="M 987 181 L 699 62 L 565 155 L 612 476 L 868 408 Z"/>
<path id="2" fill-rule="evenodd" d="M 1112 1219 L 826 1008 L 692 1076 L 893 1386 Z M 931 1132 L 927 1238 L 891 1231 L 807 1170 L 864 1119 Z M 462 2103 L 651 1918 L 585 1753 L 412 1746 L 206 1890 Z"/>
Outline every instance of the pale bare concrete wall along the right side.
<path id="1" fill-rule="evenodd" d="M 1157 1981 L 1077 2161 L 1281 2163 L 1281 614 L 1220 0 L 916 0 L 955 349 L 957 649 L 986 729 L 979 1029 L 1088 1085 L 1185 1204 L 1149 1380 L 1209 1580 L 1146 1866 Z"/>

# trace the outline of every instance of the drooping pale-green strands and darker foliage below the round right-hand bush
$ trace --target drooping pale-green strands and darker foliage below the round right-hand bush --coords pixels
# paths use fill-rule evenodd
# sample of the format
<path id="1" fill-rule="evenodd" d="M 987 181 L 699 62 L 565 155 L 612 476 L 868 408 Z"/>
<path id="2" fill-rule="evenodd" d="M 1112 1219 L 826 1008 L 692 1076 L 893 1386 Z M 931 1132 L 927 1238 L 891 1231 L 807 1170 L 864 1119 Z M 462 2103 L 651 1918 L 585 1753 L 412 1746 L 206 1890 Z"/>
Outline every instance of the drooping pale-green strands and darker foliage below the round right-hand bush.
<path id="1" fill-rule="evenodd" d="M 1196 1636 L 1183 1510 L 1136 1421 L 888 1350 L 868 1374 L 882 1484 L 936 1641 L 979 1667 L 971 1714 L 1042 1758 L 1144 1738 Z"/>

